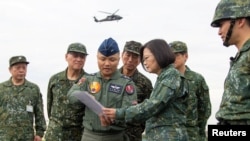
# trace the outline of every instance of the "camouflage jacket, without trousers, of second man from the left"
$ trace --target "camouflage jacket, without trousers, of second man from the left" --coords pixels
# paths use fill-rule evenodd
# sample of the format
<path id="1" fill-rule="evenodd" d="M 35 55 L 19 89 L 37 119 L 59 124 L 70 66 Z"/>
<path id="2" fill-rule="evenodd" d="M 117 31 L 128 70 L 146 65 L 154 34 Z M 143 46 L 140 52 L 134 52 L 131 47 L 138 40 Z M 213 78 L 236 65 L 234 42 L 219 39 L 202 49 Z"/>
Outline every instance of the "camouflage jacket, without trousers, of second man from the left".
<path id="1" fill-rule="evenodd" d="M 82 70 L 79 79 L 85 75 Z M 67 97 L 69 89 L 79 79 L 70 81 L 67 79 L 67 69 L 53 75 L 48 84 L 47 90 L 47 112 L 50 121 L 57 123 L 58 127 L 81 127 L 84 116 L 83 105 L 71 105 Z M 49 127 L 52 126 L 49 124 Z"/>

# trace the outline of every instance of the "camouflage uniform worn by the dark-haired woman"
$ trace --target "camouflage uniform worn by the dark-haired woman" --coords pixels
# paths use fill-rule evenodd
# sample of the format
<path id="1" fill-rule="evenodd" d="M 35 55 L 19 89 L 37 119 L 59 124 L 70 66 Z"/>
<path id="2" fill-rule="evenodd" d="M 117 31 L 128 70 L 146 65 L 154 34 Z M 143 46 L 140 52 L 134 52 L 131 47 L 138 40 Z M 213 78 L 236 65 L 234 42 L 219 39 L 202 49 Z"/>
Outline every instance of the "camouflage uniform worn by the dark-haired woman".
<path id="1" fill-rule="evenodd" d="M 116 119 L 126 122 L 146 121 L 148 141 L 187 141 L 185 127 L 186 95 L 181 74 L 169 65 L 157 77 L 149 99 L 116 110 Z"/>

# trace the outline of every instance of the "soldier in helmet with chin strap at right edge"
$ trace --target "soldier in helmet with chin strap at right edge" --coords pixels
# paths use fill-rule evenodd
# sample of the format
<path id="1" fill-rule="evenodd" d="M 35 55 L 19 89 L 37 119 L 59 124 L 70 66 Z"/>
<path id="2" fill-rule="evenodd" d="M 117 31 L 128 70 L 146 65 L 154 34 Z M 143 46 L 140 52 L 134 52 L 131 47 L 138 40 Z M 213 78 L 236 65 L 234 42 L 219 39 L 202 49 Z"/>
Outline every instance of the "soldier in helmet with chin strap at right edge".
<path id="1" fill-rule="evenodd" d="M 230 58 L 224 82 L 218 124 L 250 125 L 250 1 L 221 0 L 215 10 L 212 27 L 218 27 L 223 45 L 235 45 L 238 52 Z"/>

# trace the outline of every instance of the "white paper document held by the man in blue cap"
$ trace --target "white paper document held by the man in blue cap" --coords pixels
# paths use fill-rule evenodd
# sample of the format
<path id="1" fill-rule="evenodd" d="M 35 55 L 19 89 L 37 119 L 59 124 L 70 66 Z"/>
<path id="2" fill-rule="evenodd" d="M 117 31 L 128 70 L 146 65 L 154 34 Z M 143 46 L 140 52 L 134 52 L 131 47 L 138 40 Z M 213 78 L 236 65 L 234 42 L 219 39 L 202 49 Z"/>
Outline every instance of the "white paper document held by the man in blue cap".
<path id="1" fill-rule="evenodd" d="M 74 91 L 72 94 L 97 115 L 103 114 L 102 104 L 97 101 L 94 96 L 90 95 L 87 91 Z"/>

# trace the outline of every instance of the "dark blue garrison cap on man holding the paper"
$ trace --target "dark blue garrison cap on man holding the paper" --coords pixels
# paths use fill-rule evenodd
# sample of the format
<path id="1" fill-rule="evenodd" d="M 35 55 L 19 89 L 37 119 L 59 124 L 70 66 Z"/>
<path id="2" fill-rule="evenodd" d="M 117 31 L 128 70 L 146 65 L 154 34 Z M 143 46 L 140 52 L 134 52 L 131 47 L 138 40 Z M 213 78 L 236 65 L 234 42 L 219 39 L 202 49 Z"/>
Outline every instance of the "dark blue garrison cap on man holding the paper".
<path id="1" fill-rule="evenodd" d="M 112 38 L 105 39 L 100 45 L 98 51 L 107 57 L 120 52 L 116 41 Z"/>

